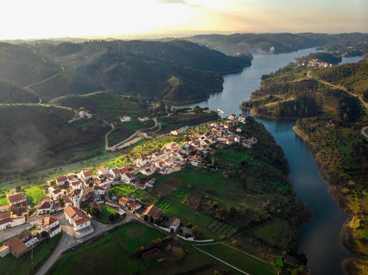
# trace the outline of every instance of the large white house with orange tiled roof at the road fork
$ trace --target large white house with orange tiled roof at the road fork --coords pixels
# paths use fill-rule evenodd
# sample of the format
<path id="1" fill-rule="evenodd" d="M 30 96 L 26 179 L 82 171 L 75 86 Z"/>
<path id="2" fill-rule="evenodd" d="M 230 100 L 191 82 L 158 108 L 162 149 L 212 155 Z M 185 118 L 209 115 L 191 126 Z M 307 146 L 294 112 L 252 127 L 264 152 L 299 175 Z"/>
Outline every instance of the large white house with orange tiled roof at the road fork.
<path id="1" fill-rule="evenodd" d="M 75 206 L 68 206 L 64 209 L 64 217 L 74 227 L 75 237 L 82 238 L 93 233 L 91 218 L 84 214 Z"/>

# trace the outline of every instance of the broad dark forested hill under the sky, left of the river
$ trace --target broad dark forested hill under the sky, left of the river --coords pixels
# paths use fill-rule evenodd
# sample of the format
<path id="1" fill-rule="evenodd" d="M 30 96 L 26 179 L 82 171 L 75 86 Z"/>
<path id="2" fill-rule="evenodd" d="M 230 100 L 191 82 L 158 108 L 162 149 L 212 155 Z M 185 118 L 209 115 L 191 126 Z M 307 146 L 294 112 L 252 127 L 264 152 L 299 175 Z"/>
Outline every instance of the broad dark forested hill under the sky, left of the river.
<path id="1" fill-rule="evenodd" d="M 195 101 L 222 90 L 220 74 L 251 65 L 251 55 L 228 56 L 181 40 L 0 43 L 0 57 L 0 78 L 24 87 L 41 82 L 31 88 L 45 101 L 98 90 Z"/>

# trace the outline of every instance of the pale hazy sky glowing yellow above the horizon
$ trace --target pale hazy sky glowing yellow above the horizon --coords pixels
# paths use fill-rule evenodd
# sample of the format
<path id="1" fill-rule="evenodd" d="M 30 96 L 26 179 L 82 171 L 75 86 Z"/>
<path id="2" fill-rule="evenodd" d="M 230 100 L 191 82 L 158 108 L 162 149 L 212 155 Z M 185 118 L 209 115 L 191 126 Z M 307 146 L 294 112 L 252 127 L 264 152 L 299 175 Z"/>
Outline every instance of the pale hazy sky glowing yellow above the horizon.
<path id="1" fill-rule="evenodd" d="M 20 0 L 0 7 L 0 39 L 368 32 L 367 0 Z"/>

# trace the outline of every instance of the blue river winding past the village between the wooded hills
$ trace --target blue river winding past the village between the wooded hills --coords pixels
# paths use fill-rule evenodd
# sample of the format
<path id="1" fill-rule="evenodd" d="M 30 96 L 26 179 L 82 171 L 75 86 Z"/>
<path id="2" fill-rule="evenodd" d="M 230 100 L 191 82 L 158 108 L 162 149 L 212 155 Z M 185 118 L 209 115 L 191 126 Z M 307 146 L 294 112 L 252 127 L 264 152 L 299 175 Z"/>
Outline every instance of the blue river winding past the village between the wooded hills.
<path id="1" fill-rule="evenodd" d="M 217 108 L 226 113 L 219 113 L 226 117 L 242 112 L 237 106 L 248 99 L 252 91 L 258 88 L 263 74 L 275 72 L 293 58 L 314 53 L 315 48 L 299 50 L 294 53 L 254 55 L 252 65 L 245 67 L 240 73 L 224 76 L 223 91 L 210 95 L 210 98 L 193 104 L 171 104 L 173 108 L 188 106 Z M 342 62 L 357 62 L 360 57 L 343 57 Z M 346 220 L 345 213 L 339 209 L 332 196 L 328 193 L 328 183 L 319 175 L 312 153 L 305 146 L 302 138 L 294 131 L 295 120 L 276 120 L 256 117 L 266 129 L 275 137 L 277 144 L 282 146 L 290 164 L 290 180 L 297 193 L 297 199 L 307 203 L 313 211 L 314 217 L 300 230 L 300 247 L 308 258 L 307 267 L 312 274 L 343 274 L 342 262 L 353 257 L 340 243 L 340 232 Z"/>

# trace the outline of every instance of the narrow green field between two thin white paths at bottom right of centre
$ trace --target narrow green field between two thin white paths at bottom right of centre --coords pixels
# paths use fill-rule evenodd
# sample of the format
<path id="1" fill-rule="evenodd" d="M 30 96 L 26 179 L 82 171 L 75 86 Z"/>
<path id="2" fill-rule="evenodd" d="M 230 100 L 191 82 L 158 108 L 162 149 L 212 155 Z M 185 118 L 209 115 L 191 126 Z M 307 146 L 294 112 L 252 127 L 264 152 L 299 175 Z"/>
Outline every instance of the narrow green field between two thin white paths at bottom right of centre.
<path id="1" fill-rule="evenodd" d="M 216 258 L 225 261 L 228 264 L 237 267 L 244 272 L 252 275 L 277 275 L 276 269 L 267 263 L 264 263 L 252 256 L 244 254 L 236 249 L 226 246 L 222 243 L 213 245 L 198 246 L 199 249 L 207 252 Z"/>

